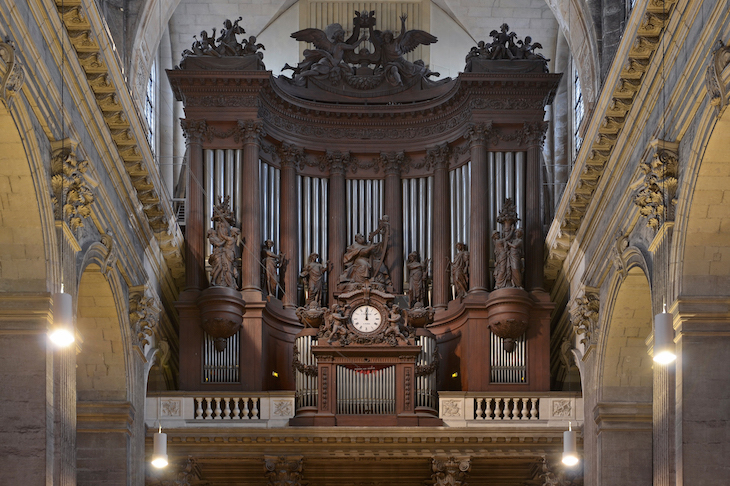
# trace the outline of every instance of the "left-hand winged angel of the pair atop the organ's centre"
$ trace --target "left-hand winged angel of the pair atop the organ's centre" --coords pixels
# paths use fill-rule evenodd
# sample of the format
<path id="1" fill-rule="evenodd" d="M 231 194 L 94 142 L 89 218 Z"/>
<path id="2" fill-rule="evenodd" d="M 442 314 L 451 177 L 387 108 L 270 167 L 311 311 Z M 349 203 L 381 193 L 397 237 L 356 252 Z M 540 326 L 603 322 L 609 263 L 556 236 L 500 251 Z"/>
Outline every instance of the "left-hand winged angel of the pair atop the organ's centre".
<path id="1" fill-rule="evenodd" d="M 303 86 L 310 76 L 329 78 L 332 84 L 339 84 L 343 73 L 351 73 L 352 68 L 344 61 L 346 52 L 354 51 L 357 46 L 367 39 L 367 34 L 354 43 L 345 41 L 345 30 L 340 24 L 330 24 L 322 31 L 320 29 L 303 29 L 291 35 L 294 39 L 314 44 L 316 49 L 305 49 L 304 61 L 296 68 L 284 66 L 284 69 L 294 71 L 295 84 Z"/>

